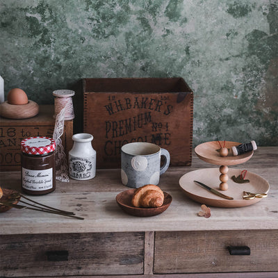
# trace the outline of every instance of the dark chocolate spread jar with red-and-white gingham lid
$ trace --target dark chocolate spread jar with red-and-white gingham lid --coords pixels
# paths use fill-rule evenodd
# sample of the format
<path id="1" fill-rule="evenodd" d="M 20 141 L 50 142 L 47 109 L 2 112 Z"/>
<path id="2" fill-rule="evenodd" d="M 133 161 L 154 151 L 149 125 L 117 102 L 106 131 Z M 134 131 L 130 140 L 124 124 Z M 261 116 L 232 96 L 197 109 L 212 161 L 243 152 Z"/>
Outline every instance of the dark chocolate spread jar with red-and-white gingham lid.
<path id="1" fill-rule="evenodd" d="M 22 190 L 31 195 L 43 195 L 56 188 L 55 140 L 30 137 L 22 140 Z"/>

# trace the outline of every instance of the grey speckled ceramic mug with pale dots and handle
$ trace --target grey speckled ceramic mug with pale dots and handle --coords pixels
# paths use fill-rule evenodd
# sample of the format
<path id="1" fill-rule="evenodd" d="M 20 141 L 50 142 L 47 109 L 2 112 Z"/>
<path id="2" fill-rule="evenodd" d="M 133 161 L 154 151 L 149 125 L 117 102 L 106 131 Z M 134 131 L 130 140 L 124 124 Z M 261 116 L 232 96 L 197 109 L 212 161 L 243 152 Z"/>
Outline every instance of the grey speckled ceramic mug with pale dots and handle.
<path id="1" fill-rule="evenodd" d="M 166 149 L 148 142 L 133 142 L 122 146 L 122 183 L 124 186 L 140 188 L 146 184 L 159 182 L 170 164 L 170 154 Z M 165 157 L 161 166 L 161 156 Z"/>

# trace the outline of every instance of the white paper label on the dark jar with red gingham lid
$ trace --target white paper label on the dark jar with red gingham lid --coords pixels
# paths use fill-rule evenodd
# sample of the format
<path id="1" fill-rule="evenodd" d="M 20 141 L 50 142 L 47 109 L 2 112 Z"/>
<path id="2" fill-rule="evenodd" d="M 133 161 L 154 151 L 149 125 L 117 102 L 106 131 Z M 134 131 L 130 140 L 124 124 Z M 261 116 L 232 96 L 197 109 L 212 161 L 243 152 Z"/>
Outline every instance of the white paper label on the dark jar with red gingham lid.
<path id="1" fill-rule="evenodd" d="M 22 187 L 27 190 L 42 191 L 53 187 L 52 168 L 29 170 L 22 167 Z"/>

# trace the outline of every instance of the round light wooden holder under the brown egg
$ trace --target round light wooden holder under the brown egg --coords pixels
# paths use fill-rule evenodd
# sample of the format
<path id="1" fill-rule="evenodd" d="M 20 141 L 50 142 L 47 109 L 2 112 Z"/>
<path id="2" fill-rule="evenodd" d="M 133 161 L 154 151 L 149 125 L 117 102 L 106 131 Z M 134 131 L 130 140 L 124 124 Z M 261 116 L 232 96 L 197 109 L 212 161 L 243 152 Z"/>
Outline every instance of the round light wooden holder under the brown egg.
<path id="1" fill-rule="evenodd" d="M 8 119 L 28 119 L 39 113 L 39 106 L 35 101 L 28 101 L 28 104 L 15 105 L 9 104 L 8 101 L 0 104 L 0 116 Z"/>

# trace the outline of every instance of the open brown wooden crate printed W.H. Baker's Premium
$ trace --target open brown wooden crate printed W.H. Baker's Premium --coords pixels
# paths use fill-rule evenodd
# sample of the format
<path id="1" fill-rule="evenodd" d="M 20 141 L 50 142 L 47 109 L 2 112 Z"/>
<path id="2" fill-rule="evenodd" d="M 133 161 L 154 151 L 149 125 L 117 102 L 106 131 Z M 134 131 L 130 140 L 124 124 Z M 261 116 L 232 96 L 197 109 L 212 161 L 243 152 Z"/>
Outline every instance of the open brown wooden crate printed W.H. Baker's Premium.
<path id="1" fill-rule="evenodd" d="M 172 166 L 191 164 L 193 92 L 181 78 L 83 79 L 83 130 L 94 136 L 97 167 L 120 167 L 129 142 L 153 142 Z"/>

